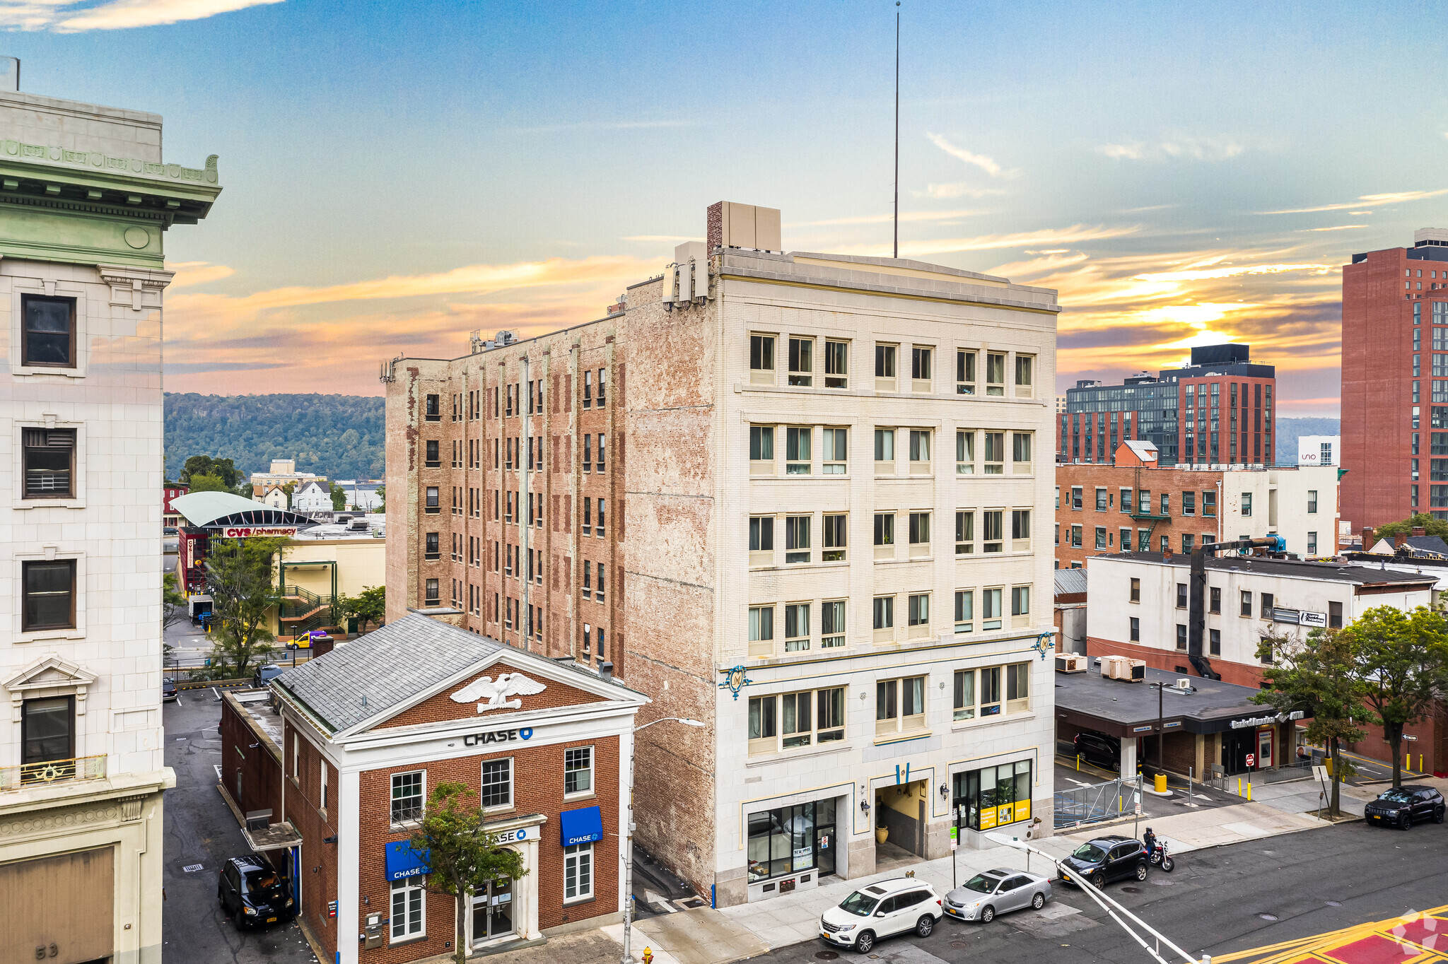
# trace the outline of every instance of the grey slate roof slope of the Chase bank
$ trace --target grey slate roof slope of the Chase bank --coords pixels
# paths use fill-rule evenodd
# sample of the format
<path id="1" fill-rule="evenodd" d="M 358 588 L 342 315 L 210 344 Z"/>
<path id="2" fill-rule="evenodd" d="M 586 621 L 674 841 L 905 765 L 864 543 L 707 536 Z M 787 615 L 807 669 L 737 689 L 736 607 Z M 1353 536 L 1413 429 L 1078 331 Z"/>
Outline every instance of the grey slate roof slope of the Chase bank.
<path id="1" fill-rule="evenodd" d="M 505 648 L 497 640 L 413 612 L 287 670 L 272 685 L 339 732 Z"/>

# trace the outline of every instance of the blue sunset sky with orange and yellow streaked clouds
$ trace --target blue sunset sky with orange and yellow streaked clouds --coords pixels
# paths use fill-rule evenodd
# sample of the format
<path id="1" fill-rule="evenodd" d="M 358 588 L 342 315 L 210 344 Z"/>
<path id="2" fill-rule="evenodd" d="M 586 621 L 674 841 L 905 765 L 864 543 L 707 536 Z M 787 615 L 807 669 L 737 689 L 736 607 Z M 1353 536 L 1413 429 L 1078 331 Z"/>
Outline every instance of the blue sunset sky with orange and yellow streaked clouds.
<path id="1" fill-rule="evenodd" d="M 1057 391 L 1238 340 L 1338 414 L 1341 265 L 1448 226 L 1432 3 L 0 0 L 0 54 L 220 155 L 168 391 L 378 395 L 601 317 L 718 200 L 889 255 L 896 12 L 902 256 L 1057 288 Z"/>

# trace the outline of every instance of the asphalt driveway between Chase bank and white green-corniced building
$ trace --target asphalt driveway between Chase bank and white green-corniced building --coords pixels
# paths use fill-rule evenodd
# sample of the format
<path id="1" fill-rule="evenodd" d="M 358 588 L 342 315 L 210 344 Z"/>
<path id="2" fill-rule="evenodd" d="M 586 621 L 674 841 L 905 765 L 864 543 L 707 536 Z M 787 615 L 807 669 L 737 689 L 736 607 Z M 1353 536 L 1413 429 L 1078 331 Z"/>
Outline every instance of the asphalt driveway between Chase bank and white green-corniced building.
<path id="1" fill-rule="evenodd" d="M 314 964 L 295 923 L 237 932 L 217 906 L 222 861 L 246 851 L 236 818 L 216 790 L 219 719 L 220 703 L 209 689 L 182 690 L 165 706 L 167 766 L 175 770 L 177 786 L 167 792 L 164 957 L 175 964 Z"/>

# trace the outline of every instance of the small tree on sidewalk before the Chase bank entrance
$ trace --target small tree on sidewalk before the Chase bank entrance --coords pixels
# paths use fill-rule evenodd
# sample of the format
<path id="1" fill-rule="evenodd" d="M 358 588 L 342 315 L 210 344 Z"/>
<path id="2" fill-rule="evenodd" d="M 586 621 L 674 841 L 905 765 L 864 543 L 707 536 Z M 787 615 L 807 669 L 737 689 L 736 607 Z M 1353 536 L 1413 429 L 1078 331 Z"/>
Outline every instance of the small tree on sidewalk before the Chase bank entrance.
<path id="1" fill-rule="evenodd" d="M 452 895 L 455 900 L 453 960 L 458 964 L 468 957 L 463 923 L 471 895 L 494 880 L 518 880 L 527 873 L 523 854 L 501 845 L 498 835 L 488 829 L 482 808 L 472 802 L 475 799 L 465 783 L 439 783 L 408 841 L 413 853 L 427 864 L 427 889 Z"/>

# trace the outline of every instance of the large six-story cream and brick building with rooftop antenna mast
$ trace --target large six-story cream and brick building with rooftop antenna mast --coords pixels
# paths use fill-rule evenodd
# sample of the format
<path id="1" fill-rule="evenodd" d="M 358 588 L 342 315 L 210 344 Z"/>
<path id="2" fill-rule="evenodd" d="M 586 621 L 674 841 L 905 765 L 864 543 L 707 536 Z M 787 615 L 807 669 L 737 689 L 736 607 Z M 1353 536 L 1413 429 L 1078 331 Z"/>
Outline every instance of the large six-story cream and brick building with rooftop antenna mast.
<path id="1" fill-rule="evenodd" d="M 1056 292 L 741 204 L 707 237 L 597 321 L 384 365 L 390 618 L 705 721 L 639 735 L 637 838 L 720 906 L 1050 828 Z"/>

